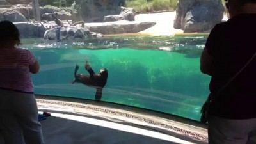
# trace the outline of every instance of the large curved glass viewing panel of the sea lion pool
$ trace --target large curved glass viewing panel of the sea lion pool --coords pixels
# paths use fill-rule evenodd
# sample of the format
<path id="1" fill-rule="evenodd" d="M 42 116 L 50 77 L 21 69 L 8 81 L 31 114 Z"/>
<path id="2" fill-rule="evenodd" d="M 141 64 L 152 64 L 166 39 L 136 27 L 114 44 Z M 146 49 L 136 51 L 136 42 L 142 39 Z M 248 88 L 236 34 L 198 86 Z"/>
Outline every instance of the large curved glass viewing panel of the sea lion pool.
<path id="1" fill-rule="evenodd" d="M 199 58 L 209 31 L 227 19 L 221 0 L 0 2 L 0 20 L 15 22 L 21 47 L 40 63 L 36 94 L 94 100 L 96 88 L 71 84 L 76 65 L 89 74 L 88 61 L 96 73 L 108 70 L 102 101 L 199 120 L 210 80 Z"/>

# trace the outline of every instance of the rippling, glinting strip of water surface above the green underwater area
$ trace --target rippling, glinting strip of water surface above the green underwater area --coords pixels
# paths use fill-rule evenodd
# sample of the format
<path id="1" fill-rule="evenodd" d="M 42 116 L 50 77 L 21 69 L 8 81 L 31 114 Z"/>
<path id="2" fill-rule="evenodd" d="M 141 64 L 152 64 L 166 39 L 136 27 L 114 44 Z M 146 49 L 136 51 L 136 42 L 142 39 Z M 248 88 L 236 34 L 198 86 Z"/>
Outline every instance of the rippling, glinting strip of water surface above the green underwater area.
<path id="1" fill-rule="evenodd" d="M 26 39 L 28 49 L 152 49 L 186 53 L 202 51 L 207 36 L 109 36 L 86 40 Z"/>

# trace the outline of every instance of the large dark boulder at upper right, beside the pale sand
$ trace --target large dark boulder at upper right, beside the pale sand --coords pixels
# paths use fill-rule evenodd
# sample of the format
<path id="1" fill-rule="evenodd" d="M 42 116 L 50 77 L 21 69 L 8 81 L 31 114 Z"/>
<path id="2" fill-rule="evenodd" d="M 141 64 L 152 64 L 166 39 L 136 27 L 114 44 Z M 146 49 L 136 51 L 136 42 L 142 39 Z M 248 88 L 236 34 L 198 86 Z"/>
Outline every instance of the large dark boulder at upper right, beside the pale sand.
<path id="1" fill-rule="evenodd" d="M 173 27 L 184 33 L 204 32 L 223 19 L 221 0 L 179 0 Z"/>

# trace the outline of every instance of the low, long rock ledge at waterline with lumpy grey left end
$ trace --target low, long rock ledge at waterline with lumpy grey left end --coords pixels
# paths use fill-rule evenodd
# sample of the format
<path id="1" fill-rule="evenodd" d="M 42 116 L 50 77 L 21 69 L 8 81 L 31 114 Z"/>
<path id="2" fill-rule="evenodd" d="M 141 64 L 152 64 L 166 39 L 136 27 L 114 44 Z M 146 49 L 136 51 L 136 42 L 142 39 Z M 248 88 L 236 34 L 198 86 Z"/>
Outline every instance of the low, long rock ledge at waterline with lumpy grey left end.
<path id="1" fill-rule="evenodd" d="M 44 35 L 48 40 L 58 39 L 56 35 L 60 35 L 60 40 L 65 38 L 90 38 L 102 37 L 102 35 L 120 34 L 120 33 L 138 33 L 154 26 L 156 22 L 136 22 L 120 20 L 116 22 L 90 22 L 85 23 L 84 27 L 68 26 L 58 28 L 54 22 L 44 23 L 45 28 L 49 28 Z M 59 34 L 60 33 L 60 34 Z"/>

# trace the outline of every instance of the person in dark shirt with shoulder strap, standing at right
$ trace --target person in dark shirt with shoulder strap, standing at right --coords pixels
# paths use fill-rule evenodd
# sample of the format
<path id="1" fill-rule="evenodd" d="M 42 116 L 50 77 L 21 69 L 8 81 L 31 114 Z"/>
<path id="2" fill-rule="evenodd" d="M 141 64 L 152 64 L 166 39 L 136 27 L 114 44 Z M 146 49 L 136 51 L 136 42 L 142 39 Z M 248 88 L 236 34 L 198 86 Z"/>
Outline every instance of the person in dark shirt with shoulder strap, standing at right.
<path id="1" fill-rule="evenodd" d="M 228 83 L 256 52 L 256 0 L 226 6 L 230 19 L 212 29 L 200 58 L 201 72 L 211 76 L 209 144 L 256 143 L 256 58 Z"/>

